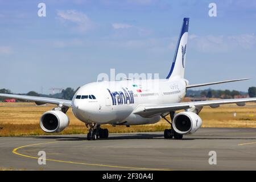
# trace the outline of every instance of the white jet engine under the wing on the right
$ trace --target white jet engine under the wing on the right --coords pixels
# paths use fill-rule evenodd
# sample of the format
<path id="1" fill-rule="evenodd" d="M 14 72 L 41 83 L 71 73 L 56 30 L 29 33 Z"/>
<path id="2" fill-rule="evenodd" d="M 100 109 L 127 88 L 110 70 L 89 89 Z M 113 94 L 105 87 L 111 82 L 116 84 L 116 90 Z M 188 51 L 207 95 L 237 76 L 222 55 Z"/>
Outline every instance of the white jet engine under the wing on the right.
<path id="1" fill-rule="evenodd" d="M 179 134 L 193 134 L 201 125 L 202 119 L 191 111 L 176 114 L 172 121 L 172 127 Z"/>

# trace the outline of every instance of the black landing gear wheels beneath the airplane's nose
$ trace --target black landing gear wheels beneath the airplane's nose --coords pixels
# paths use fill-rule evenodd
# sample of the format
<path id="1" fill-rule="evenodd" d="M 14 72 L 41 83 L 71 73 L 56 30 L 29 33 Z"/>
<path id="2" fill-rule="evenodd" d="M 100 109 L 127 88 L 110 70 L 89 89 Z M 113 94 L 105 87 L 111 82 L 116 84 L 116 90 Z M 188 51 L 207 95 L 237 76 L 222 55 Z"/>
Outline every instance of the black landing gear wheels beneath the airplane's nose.
<path id="1" fill-rule="evenodd" d="M 101 129 L 100 125 L 95 123 L 85 124 L 88 129 L 89 133 L 87 134 L 87 140 L 96 140 L 98 138 L 108 138 L 109 137 L 109 130 L 108 129 Z"/>

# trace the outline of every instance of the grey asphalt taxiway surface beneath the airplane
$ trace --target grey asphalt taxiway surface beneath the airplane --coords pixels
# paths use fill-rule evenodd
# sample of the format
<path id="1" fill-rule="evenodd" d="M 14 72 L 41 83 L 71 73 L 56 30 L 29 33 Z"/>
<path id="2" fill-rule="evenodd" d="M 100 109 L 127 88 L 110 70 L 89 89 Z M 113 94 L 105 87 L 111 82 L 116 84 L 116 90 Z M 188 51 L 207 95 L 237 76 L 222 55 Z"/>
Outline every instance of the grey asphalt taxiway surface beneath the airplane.
<path id="1" fill-rule="evenodd" d="M 46 165 L 38 164 L 39 151 L 46 152 Z M 216 151 L 216 165 L 208 163 L 209 151 Z M 256 129 L 202 128 L 196 134 L 185 135 L 182 140 L 164 139 L 163 132 L 110 134 L 108 139 L 96 141 L 86 140 L 85 135 L 0 137 L 1 167 L 27 170 L 256 170 Z"/>

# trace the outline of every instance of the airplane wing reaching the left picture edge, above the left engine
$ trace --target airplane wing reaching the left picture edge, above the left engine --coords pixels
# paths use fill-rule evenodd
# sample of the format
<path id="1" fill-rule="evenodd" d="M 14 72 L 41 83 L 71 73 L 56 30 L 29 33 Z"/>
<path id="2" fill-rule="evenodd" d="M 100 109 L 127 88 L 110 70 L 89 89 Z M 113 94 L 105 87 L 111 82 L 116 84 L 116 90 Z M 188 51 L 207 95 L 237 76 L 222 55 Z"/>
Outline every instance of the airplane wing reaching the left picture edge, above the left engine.
<path id="1" fill-rule="evenodd" d="M 56 104 L 63 106 L 71 107 L 72 101 L 69 100 L 62 100 L 58 98 L 49 98 L 49 97 L 35 97 L 35 96 L 23 96 L 23 95 L 16 95 L 16 94 L 3 94 L 0 93 L 0 97 L 6 98 L 16 98 L 18 100 L 27 100 L 27 101 L 34 101 L 37 105 L 42 104 Z"/>

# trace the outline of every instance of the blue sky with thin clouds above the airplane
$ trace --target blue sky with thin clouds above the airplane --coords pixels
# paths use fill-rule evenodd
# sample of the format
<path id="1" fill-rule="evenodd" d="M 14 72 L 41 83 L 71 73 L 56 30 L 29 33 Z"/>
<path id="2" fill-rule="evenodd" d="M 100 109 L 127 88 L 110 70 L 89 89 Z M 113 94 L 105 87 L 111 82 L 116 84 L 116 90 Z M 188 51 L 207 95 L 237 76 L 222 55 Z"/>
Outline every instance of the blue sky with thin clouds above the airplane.
<path id="1" fill-rule="evenodd" d="M 209 16 L 212 2 L 217 16 Z M 46 16 L 38 16 L 39 3 Z M 48 94 L 112 68 L 165 78 L 184 17 L 191 84 L 250 77 L 210 88 L 256 86 L 256 1 L 0 0 L 0 89 Z"/>

